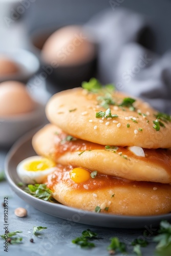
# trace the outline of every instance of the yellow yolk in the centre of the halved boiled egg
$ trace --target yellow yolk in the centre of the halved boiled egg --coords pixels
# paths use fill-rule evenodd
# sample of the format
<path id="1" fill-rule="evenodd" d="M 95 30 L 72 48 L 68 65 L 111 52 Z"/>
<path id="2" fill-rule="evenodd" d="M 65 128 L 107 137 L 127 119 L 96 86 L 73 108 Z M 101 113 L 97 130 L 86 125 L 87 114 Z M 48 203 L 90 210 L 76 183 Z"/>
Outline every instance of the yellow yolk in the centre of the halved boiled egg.
<path id="1" fill-rule="evenodd" d="M 49 168 L 52 168 L 54 167 L 56 164 L 47 159 L 47 158 L 42 158 L 40 160 L 35 160 L 35 161 L 32 161 L 32 162 L 29 162 L 29 163 L 26 163 L 24 168 L 26 170 L 30 170 L 30 171 L 34 171 L 34 172 L 37 172 L 39 170 L 46 170 L 46 169 L 49 169 Z"/>

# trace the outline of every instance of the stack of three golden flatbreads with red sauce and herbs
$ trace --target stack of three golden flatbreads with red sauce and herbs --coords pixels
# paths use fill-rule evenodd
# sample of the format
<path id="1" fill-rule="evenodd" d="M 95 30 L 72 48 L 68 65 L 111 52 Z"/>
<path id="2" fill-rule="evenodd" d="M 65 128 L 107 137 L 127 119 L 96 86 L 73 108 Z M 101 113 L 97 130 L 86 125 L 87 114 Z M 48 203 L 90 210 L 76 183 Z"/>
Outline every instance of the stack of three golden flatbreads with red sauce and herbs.
<path id="1" fill-rule="evenodd" d="M 60 203 L 108 214 L 171 211 L 171 119 L 110 85 L 53 95 L 32 140 L 56 162 L 46 179 Z"/>

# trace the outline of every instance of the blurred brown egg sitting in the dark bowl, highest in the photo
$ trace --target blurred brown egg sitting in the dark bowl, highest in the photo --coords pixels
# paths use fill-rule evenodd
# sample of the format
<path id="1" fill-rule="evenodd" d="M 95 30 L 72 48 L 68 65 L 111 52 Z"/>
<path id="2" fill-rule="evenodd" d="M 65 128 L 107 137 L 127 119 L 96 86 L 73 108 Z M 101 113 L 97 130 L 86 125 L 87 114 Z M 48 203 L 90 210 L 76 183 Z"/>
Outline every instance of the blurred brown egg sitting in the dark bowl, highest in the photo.
<path id="1" fill-rule="evenodd" d="M 79 26 L 67 26 L 55 31 L 42 48 L 42 58 L 51 66 L 75 66 L 95 56 L 95 46 Z"/>

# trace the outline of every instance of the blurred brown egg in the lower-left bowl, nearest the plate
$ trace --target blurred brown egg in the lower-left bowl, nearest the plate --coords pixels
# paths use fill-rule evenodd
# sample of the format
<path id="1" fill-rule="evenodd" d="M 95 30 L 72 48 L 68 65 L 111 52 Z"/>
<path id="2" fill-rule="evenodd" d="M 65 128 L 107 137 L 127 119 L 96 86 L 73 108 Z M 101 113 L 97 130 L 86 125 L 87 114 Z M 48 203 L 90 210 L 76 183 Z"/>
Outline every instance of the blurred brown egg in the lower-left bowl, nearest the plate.
<path id="1" fill-rule="evenodd" d="M 35 102 L 25 84 L 17 81 L 0 83 L 0 116 L 8 117 L 31 112 Z"/>

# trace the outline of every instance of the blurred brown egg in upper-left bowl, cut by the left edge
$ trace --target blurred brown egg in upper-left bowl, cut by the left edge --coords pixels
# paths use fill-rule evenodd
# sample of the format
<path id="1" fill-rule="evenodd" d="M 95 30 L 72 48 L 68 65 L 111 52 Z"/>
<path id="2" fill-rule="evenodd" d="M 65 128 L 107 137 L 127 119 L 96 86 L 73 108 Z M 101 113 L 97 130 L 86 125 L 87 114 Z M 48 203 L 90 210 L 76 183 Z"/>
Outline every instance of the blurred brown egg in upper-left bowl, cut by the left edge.
<path id="1" fill-rule="evenodd" d="M 17 63 L 0 55 L 0 76 L 11 75 L 19 72 Z"/>

